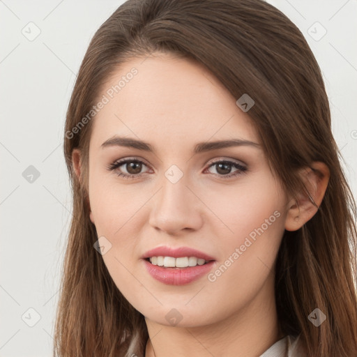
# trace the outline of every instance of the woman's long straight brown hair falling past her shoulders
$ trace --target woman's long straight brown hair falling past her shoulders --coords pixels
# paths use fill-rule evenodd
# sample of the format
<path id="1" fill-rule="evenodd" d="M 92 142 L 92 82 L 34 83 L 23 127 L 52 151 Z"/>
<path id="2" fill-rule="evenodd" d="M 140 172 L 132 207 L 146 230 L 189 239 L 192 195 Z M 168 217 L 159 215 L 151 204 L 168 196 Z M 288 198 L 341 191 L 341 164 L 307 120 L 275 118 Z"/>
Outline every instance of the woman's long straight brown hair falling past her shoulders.
<path id="1" fill-rule="evenodd" d="M 317 213 L 301 229 L 284 232 L 275 276 L 278 319 L 286 335 L 301 334 L 309 357 L 357 356 L 356 203 L 331 132 L 324 82 L 301 31 L 261 0 L 129 0 L 93 36 L 66 117 L 73 217 L 54 356 L 144 356 L 144 316 L 123 297 L 93 248 L 98 236 L 89 219 L 87 171 L 96 117 L 83 118 L 114 70 L 153 52 L 195 59 L 234 98 L 248 93 L 255 100 L 250 118 L 286 192 L 298 197 L 305 190 L 299 168 L 321 161 L 330 169 Z M 73 171 L 75 148 L 82 151 L 80 180 Z M 308 319 L 317 307 L 327 317 L 319 327 Z"/>

